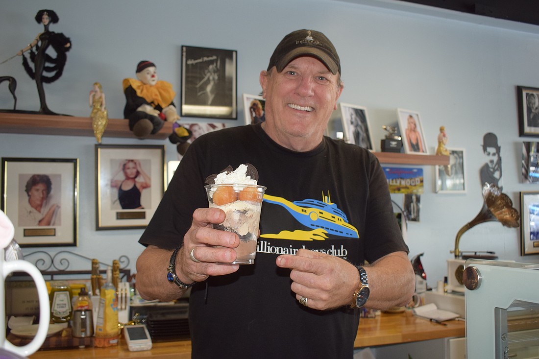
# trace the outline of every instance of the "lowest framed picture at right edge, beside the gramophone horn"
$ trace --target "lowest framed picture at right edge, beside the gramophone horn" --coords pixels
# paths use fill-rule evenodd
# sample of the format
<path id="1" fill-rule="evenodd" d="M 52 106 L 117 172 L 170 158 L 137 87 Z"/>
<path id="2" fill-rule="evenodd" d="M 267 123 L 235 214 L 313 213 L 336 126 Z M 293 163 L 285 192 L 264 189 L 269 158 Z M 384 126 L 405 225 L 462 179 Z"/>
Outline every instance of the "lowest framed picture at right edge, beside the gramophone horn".
<path id="1" fill-rule="evenodd" d="M 520 255 L 539 254 L 539 192 L 520 192 Z"/>

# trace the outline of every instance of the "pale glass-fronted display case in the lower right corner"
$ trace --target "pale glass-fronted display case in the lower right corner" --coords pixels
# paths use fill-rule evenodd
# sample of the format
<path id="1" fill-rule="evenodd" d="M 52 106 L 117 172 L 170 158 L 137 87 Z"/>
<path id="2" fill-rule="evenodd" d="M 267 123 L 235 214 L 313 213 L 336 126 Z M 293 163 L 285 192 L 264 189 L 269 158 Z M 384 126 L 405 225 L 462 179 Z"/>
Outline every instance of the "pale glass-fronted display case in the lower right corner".
<path id="1" fill-rule="evenodd" d="M 539 264 L 468 259 L 467 359 L 539 359 Z"/>

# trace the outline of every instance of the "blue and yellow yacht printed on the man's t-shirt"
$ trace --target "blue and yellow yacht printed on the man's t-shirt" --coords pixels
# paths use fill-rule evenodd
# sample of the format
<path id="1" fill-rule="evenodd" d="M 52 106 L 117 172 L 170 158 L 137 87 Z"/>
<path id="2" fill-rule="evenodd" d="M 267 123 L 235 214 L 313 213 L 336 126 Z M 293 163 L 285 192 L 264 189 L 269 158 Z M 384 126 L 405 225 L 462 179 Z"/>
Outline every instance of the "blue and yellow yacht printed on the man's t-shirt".
<path id="1" fill-rule="evenodd" d="M 322 192 L 322 199 L 323 201 L 303 199 L 302 201 L 290 202 L 281 197 L 264 195 L 264 202 L 282 206 L 299 223 L 319 232 L 319 234 L 326 232 L 340 237 L 359 238 L 357 229 L 348 223 L 344 212 L 337 208 L 335 203 L 331 203 L 329 194 L 324 196 Z"/>

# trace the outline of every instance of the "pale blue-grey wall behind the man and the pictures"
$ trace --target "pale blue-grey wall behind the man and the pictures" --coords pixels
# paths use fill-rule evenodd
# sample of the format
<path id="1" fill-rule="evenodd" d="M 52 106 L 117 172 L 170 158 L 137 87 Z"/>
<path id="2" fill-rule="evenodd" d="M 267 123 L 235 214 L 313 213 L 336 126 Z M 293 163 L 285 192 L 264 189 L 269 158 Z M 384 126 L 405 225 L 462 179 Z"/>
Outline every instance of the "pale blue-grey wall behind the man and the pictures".
<path id="1" fill-rule="evenodd" d="M 360 0 L 357 0 L 358 2 Z M 425 194 L 421 221 L 410 223 L 407 242 L 411 256 L 422 257 L 430 286 L 442 279 L 445 260 L 460 227 L 479 212 L 482 197 L 479 168 L 484 163 L 482 136 L 494 132 L 501 144 L 504 192 L 519 209 L 520 191 L 537 190 L 522 184 L 521 147 L 516 109 L 516 85 L 539 87 L 539 31 L 523 32 L 454 19 L 419 15 L 330 0 L 158 1 L 96 0 L 75 2 L 35 0 L 4 2 L 0 49 L 2 59 L 15 54 L 42 31 L 33 17 L 44 6 L 56 11 L 51 31 L 72 39 L 63 77 L 46 85 L 47 103 L 56 112 L 88 116 L 88 92 L 101 82 L 110 118 L 122 118 L 121 81 L 134 76 L 136 64 L 154 61 L 163 80 L 174 84 L 180 102 L 181 45 L 238 51 L 238 98 L 258 93 L 258 74 L 267 67 L 279 40 L 288 32 L 313 28 L 327 34 L 342 61 L 345 89 L 342 102 L 366 106 L 374 142 L 384 135 L 382 125 L 396 123 L 397 107 L 421 114 L 429 150 L 436 146 L 438 128 L 446 127 L 448 147 L 465 148 L 467 194 L 442 195 L 433 191 L 434 173 L 424 167 Z M 502 22 L 506 24 L 506 22 Z M 34 82 L 20 58 L 0 67 L 1 75 L 17 78 L 18 109 L 37 110 Z M 12 107 L 5 84 L 0 85 L 0 108 Z M 238 124 L 243 105 L 238 101 Z M 185 122 L 196 119 L 185 118 Z M 232 123 L 233 121 L 223 121 Z M 530 141 L 533 139 L 527 139 Z M 141 230 L 95 231 L 94 156 L 92 137 L 0 134 L 0 156 L 80 158 L 79 246 L 46 248 L 50 253 L 73 250 L 105 263 L 126 254 L 135 259 L 142 250 Z M 163 141 L 103 140 L 107 144 L 167 145 L 167 160 L 175 147 Z M 394 196 L 402 203 L 402 197 Z M 487 223 L 464 234 L 461 250 L 492 250 L 500 259 L 539 262 L 538 256 L 520 256 L 520 231 Z M 32 252 L 25 248 L 25 253 Z"/>

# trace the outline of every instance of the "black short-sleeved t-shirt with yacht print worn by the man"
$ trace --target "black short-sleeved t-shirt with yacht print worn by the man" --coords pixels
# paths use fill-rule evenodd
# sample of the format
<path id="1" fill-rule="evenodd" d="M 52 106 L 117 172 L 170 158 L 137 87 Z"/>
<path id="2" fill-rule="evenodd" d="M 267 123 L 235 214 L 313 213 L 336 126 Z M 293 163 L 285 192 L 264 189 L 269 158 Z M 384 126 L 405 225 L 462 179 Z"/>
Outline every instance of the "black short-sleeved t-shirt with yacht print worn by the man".
<path id="1" fill-rule="evenodd" d="M 368 150 L 324 137 L 314 150 L 297 153 L 260 125 L 203 135 L 183 157 L 140 243 L 179 245 L 192 212 L 208 206 L 205 178 L 245 163 L 257 168 L 258 184 L 267 187 L 257 257 L 254 265 L 191 289 L 192 357 L 351 358 L 357 310 L 300 305 L 290 271 L 275 259 L 308 248 L 362 264 L 407 251 L 385 175 Z"/>

